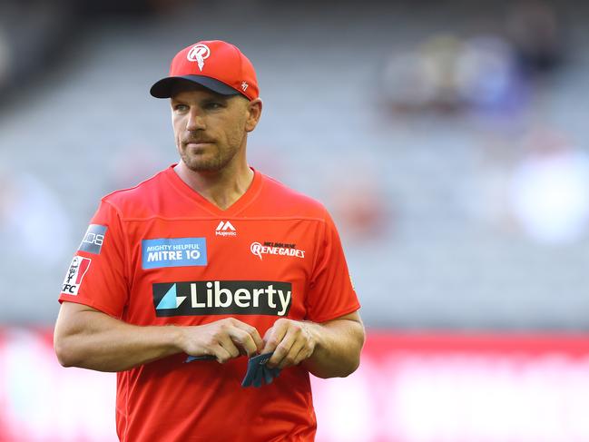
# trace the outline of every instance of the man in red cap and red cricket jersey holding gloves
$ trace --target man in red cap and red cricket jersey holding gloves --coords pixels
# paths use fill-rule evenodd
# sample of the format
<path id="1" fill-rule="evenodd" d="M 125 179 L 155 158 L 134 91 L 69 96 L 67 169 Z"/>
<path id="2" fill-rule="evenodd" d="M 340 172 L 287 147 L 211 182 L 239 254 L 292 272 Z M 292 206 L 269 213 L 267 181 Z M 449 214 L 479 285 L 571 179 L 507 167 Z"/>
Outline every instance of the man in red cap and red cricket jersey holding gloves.
<path id="1" fill-rule="evenodd" d="M 57 357 L 118 372 L 122 441 L 313 440 L 309 372 L 348 376 L 364 342 L 333 221 L 248 166 L 262 103 L 237 47 L 183 49 L 151 93 L 171 98 L 180 161 L 103 198 L 64 280 Z M 266 353 L 280 376 L 241 387 L 244 355 Z"/>

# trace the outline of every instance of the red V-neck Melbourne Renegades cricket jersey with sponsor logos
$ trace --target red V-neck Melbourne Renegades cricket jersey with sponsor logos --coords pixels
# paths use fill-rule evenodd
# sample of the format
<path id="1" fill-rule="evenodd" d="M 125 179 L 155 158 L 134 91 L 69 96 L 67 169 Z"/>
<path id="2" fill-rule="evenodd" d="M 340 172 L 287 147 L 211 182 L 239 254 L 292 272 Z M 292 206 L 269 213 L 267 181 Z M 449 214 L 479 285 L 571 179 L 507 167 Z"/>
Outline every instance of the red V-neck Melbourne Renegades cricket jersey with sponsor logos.
<path id="1" fill-rule="evenodd" d="M 324 322 L 359 309 L 338 232 L 319 202 L 254 171 L 248 191 L 222 211 L 172 167 L 103 198 L 60 301 L 140 326 L 233 317 L 260 336 L 279 318 Z M 223 365 L 185 359 L 117 374 L 122 441 L 313 440 L 304 368 L 242 388 L 246 357 Z"/>

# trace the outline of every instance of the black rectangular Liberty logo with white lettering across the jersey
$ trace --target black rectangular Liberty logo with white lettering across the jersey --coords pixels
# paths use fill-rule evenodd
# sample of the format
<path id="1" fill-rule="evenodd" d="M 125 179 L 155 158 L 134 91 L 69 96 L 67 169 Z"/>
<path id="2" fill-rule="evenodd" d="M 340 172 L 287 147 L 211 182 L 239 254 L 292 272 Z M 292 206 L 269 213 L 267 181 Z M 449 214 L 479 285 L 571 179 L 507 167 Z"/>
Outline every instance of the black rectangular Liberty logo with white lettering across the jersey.
<path id="1" fill-rule="evenodd" d="M 210 280 L 154 283 L 158 317 L 201 315 L 286 316 L 292 303 L 290 282 Z"/>

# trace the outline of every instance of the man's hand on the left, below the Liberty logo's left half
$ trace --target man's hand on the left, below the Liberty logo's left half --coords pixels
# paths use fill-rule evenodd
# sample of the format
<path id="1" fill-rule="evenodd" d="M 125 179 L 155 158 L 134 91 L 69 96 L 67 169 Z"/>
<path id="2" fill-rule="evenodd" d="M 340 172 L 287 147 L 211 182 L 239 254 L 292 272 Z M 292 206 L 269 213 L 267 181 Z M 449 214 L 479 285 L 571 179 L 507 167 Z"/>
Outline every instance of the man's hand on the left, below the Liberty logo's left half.
<path id="1" fill-rule="evenodd" d="M 255 356 L 264 347 L 260 333 L 241 320 L 227 318 L 196 327 L 182 327 L 182 351 L 212 355 L 224 364 L 242 354 Z"/>

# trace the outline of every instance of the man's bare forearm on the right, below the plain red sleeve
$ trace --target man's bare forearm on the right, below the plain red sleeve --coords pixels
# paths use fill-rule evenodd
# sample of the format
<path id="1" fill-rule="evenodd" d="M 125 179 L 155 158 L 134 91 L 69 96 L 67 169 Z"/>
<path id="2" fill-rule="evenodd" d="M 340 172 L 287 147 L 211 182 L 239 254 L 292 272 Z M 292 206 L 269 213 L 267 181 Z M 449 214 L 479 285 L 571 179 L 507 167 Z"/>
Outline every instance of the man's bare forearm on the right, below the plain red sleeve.
<path id="1" fill-rule="evenodd" d="M 364 326 L 354 319 L 335 319 L 324 324 L 305 322 L 316 341 L 303 366 L 318 378 L 346 377 L 358 368 L 364 345 Z"/>

